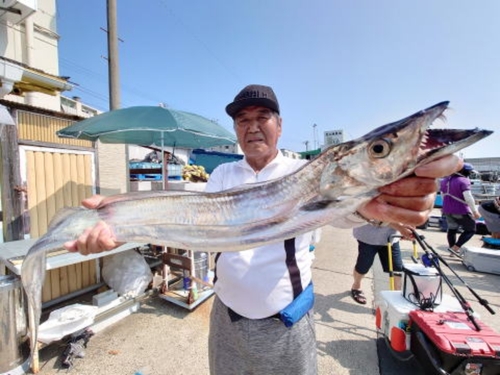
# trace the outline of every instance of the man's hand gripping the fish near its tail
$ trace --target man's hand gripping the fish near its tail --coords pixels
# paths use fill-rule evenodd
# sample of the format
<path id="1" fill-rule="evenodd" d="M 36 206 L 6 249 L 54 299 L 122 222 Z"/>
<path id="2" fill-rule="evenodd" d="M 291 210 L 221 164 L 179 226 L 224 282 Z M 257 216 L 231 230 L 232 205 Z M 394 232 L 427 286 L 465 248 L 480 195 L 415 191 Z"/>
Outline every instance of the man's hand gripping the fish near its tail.
<path id="1" fill-rule="evenodd" d="M 104 200 L 102 195 L 93 195 L 82 201 L 87 208 L 96 208 Z M 112 250 L 123 243 L 117 242 L 111 228 L 104 222 L 98 222 L 93 228 L 86 229 L 76 241 L 68 241 L 64 247 L 69 251 L 80 252 L 82 255 L 101 253 Z"/>

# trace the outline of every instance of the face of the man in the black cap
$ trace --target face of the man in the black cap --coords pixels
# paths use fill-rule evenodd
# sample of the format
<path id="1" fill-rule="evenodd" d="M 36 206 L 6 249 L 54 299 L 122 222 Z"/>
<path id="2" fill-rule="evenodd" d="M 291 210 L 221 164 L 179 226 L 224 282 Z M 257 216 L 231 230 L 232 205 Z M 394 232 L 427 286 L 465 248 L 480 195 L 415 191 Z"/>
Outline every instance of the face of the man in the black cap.
<path id="1" fill-rule="evenodd" d="M 274 158 L 281 136 L 281 117 L 269 108 L 250 106 L 234 117 L 238 142 L 247 158 Z"/>

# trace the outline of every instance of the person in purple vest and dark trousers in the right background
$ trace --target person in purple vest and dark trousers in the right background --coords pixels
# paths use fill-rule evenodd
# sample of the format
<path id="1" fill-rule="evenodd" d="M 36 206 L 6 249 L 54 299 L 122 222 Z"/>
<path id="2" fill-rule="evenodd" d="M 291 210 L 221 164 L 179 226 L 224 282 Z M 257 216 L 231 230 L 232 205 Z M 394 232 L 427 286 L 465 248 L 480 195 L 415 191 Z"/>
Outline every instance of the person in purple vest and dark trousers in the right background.
<path id="1" fill-rule="evenodd" d="M 443 196 L 442 212 L 448 224 L 448 251 L 461 257 L 460 248 L 476 233 L 476 219 L 479 214 L 471 191 L 469 176 L 474 171 L 472 164 L 464 163 L 457 173 L 441 180 L 440 190 Z M 462 233 L 458 236 L 459 229 Z"/>

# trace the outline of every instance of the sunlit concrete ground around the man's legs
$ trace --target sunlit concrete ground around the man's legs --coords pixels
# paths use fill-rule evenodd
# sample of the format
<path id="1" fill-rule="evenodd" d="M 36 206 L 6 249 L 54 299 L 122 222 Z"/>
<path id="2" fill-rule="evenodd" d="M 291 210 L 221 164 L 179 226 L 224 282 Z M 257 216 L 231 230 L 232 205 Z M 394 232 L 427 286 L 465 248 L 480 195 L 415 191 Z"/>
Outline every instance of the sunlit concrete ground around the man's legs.
<path id="1" fill-rule="evenodd" d="M 445 255 L 445 233 L 433 229 L 421 233 Z M 480 236 L 476 235 L 469 245 L 479 247 Z M 408 257 L 405 261 L 410 261 L 411 243 L 405 241 L 402 248 L 405 257 Z M 368 303 L 356 304 L 349 293 L 356 255 L 357 246 L 351 230 L 323 229 L 313 264 L 319 374 L 376 375 L 392 371 L 387 366 L 379 366 L 373 312 L 374 293 L 389 289 L 388 278 L 382 274 L 377 262 L 373 272 L 363 282 Z M 500 310 L 500 276 L 472 273 L 455 260 L 449 263 L 469 286 L 490 301 L 493 309 Z M 495 329 L 500 327 L 499 315 L 490 315 L 471 297 L 463 284 L 456 278 L 453 282 L 481 315 L 482 321 Z M 445 292 L 451 294 L 449 290 L 445 289 Z M 194 311 L 188 311 L 160 298 L 148 298 L 137 313 L 92 337 L 86 356 L 76 359 L 69 371 L 61 368 L 62 344 L 51 344 L 42 349 L 39 373 L 208 374 L 207 337 L 212 302 L 213 298 L 210 298 Z"/>

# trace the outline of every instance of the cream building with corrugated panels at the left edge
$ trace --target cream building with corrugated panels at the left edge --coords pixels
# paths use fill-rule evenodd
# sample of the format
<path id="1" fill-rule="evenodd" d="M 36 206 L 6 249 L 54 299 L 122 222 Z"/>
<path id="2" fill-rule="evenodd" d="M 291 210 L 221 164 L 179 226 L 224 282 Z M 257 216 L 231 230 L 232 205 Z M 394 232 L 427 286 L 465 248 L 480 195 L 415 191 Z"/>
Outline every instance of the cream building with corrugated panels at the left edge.
<path id="1" fill-rule="evenodd" d="M 56 0 L 4 0 L 0 7 L 0 242 L 37 238 L 56 212 L 96 192 L 128 190 L 125 145 L 62 139 L 56 131 L 98 113 L 59 75 Z M 95 289 L 98 260 L 47 272 L 42 302 Z M 5 270 L 0 269 L 0 274 Z"/>

